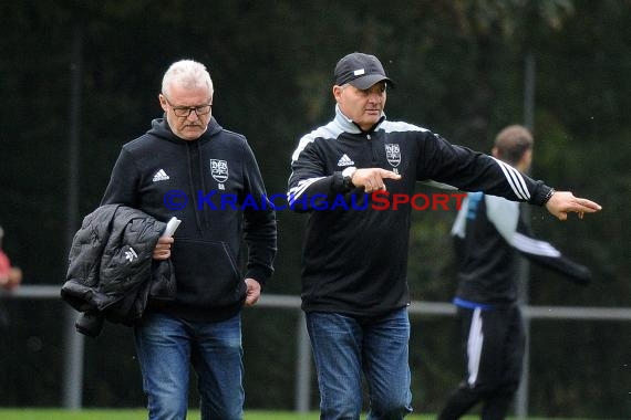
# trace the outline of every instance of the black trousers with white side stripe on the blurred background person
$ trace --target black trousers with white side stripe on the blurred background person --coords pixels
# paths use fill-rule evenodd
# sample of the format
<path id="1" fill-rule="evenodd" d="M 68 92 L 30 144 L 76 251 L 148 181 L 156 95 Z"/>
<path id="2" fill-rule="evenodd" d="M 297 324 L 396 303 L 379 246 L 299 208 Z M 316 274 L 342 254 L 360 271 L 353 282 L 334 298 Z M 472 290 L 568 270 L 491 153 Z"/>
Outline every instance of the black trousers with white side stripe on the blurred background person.
<path id="1" fill-rule="evenodd" d="M 519 387 L 526 337 L 521 312 L 506 308 L 458 307 L 466 375 L 438 414 L 458 419 L 483 403 L 483 420 L 506 418 Z"/>

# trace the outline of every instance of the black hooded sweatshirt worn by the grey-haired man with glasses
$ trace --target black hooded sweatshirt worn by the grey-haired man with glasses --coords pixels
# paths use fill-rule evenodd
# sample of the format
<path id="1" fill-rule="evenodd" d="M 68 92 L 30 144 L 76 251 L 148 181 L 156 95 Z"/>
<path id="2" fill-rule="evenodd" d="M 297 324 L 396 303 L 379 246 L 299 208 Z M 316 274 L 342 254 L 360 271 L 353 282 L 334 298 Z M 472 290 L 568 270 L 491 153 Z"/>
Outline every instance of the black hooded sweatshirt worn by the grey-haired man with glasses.
<path id="1" fill-rule="evenodd" d="M 265 285 L 276 254 L 276 216 L 271 206 L 240 206 L 266 200 L 263 181 L 246 138 L 211 118 L 197 140 L 173 134 L 166 119 L 123 146 L 102 203 L 123 203 L 168 221 L 182 220 L 172 260 L 177 297 L 149 309 L 192 321 L 224 319 L 242 306 L 240 273 Z M 252 201 L 254 200 L 254 201 Z M 179 207 L 182 208 L 178 208 Z"/>

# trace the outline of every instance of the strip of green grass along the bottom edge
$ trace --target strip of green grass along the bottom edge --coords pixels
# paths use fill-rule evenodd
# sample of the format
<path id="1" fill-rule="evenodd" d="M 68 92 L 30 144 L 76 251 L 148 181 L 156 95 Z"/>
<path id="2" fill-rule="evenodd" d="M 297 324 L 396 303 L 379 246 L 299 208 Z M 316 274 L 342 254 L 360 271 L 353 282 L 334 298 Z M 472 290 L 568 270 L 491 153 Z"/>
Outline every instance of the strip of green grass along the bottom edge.
<path id="1" fill-rule="evenodd" d="M 63 409 L 0 409 L 2 420 L 143 420 L 147 418 L 146 410 L 77 410 Z M 298 414 L 291 411 L 246 411 L 245 420 L 318 420 L 318 413 Z M 434 414 L 413 414 L 406 420 L 434 420 Z M 190 410 L 187 420 L 199 420 L 199 412 Z M 477 420 L 477 417 L 464 417 L 463 420 Z M 528 418 L 528 420 L 551 420 Z M 557 419 L 561 420 L 561 419 Z M 566 419 L 572 420 L 572 419 Z M 573 419 L 579 420 L 579 419 Z"/>

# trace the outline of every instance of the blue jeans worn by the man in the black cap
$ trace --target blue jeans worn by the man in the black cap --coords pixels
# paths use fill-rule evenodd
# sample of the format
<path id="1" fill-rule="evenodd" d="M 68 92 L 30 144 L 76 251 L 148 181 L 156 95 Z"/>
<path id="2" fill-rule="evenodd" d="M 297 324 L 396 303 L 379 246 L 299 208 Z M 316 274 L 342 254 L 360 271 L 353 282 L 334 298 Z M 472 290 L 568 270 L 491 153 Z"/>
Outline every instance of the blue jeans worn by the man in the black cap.
<path id="1" fill-rule="evenodd" d="M 306 316 L 318 370 L 320 419 L 360 418 L 362 371 L 369 420 L 403 419 L 412 412 L 407 308 L 371 319 L 324 312 Z"/>

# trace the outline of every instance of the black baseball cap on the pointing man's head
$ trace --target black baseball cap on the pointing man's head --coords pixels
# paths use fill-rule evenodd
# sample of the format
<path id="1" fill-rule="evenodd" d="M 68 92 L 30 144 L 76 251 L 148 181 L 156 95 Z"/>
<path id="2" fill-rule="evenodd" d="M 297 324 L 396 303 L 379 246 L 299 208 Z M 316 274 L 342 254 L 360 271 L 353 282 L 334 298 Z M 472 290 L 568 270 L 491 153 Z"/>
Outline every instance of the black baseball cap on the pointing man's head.
<path id="1" fill-rule="evenodd" d="M 334 77 L 339 86 L 350 83 L 360 90 L 369 88 L 382 81 L 394 86 L 376 56 L 359 52 L 351 53 L 338 62 Z"/>

